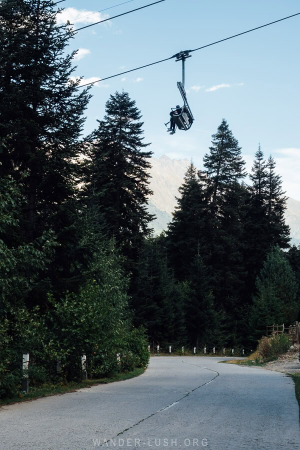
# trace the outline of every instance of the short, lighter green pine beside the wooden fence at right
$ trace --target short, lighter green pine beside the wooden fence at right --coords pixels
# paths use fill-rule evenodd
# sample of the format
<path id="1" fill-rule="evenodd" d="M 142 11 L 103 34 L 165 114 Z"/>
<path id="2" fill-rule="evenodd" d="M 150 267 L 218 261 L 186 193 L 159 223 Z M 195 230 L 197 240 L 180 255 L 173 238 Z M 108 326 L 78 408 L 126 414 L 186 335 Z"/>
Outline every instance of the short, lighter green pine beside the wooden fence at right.
<path id="1" fill-rule="evenodd" d="M 252 338 L 258 339 L 266 325 L 293 323 L 299 312 L 298 285 L 292 268 L 279 246 L 267 254 L 256 278 L 256 295 L 251 311 Z"/>

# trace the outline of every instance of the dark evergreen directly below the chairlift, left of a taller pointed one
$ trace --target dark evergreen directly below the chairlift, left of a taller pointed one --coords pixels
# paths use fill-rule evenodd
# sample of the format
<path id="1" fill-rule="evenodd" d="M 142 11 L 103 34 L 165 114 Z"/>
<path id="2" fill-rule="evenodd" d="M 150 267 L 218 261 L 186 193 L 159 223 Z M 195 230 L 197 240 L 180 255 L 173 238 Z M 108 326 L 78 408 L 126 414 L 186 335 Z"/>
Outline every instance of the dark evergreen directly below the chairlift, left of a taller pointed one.
<path id="1" fill-rule="evenodd" d="M 211 293 L 213 274 L 205 265 L 209 260 L 209 241 L 213 229 L 209 179 L 191 162 L 186 170 L 173 220 L 166 232 L 166 248 L 177 279 L 184 283 L 186 329 L 191 346 L 209 340 L 215 325 Z"/>

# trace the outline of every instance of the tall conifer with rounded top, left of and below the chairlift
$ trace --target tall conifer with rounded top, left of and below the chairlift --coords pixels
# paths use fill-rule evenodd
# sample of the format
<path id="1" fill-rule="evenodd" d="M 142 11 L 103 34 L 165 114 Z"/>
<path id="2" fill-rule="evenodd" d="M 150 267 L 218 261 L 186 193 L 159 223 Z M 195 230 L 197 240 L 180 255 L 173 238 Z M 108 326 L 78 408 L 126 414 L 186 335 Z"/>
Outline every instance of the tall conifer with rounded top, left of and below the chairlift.
<path id="1" fill-rule="evenodd" d="M 141 114 L 127 92 L 115 92 L 106 102 L 106 115 L 90 136 L 85 165 L 84 202 L 96 208 L 99 224 L 114 237 L 122 252 L 135 259 L 152 215 L 147 212 L 151 151 L 143 149 Z"/>

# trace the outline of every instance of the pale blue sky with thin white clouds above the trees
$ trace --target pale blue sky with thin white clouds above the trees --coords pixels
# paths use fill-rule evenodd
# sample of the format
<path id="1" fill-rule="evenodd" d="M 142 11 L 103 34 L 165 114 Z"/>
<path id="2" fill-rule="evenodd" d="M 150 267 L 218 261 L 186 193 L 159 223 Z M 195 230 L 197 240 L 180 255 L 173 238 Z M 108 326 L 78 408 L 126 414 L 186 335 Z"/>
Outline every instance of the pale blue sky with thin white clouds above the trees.
<path id="1" fill-rule="evenodd" d="M 134 0 L 73 21 L 121 1 L 66 0 L 61 21 L 80 27 L 150 2 Z M 166 0 L 79 31 L 70 41 L 71 49 L 80 48 L 74 74 L 87 81 L 103 78 L 296 12 L 296 0 Z M 265 155 L 275 157 L 287 194 L 300 200 L 299 29 L 300 15 L 193 52 L 186 61 L 185 88 L 195 118 L 188 131 L 169 135 L 164 126 L 181 98 L 181 68 L 174 59 L 94 86 L 84 131 L 103 117 L 109 94 L 124 89 L 142 112 L 154 156 L 192 157 L 201 167 L 224 117 L 247 167 L 260 141 Z"/>

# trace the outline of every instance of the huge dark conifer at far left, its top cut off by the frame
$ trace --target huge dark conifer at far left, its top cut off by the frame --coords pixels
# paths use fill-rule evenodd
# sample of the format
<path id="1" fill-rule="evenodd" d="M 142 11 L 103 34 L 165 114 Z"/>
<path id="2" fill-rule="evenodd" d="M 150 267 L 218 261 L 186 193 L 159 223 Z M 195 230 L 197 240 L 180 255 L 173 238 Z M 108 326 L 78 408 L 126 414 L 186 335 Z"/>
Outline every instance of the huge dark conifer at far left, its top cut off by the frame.
<path id="1" fill-rule="evenodd" d="M 31 242 L 44 229 L 55 231 L 60 246 L 48 276 L 64 290 L 80 277 L 75 161 L 89 94 L 70 81 L 75 52 L 65 54 L 70 34 L 56 17 L 49 0 L 0 4 L 0 137 L 7 136 L 0 175 L 18 181 L 27 173 L 19 236 Z"/>

